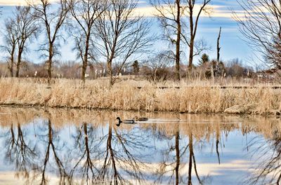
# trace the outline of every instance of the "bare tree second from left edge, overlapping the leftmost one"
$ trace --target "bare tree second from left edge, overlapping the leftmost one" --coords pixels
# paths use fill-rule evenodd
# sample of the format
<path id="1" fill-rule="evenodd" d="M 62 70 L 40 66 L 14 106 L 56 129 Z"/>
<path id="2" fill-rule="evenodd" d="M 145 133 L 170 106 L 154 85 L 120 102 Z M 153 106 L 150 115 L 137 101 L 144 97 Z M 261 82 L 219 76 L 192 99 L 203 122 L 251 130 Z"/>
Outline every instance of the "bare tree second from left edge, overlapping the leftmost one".
<path id="1" fill-rule="evenodd" d="M 16 64 L 15 77 L 18 77 L 20 73 L 22 53 L 27 49 L 27 40 L 32 39 L 32 36 L 36 36 L 39 29 L 31 11 L 30 6 L 17 6 L 15 8 L 15 27 L 18 32 L 18 62 Z"/>

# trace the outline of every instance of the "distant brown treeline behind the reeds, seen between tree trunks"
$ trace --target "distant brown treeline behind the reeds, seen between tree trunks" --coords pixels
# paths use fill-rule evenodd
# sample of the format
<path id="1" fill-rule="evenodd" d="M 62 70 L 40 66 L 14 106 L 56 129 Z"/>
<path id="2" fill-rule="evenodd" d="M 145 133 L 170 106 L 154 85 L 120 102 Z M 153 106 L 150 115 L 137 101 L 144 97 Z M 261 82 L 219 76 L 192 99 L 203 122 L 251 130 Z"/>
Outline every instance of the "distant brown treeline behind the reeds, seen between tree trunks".
<path id="1" fill-rule="evenodd" d="M 159 57 L 159 56 L 158 56 Z M 213 62 L 213 63 L 212 63 Z M 208 61 L 200 63 L 196 67 L 193 67 L 192 76 L 202 79 L 211 78 L 211 64 L 214 61 Z M 230 60 L 225 63 L 221 63 L 223 68 L 218 69 L 216 77 L 222 78 L 251 78 L 256 77 L 254 69 L 251 67 L 244 67 L 242 62 L 238 59 Z M 46 64 L 35 64 L 33 62 L 22 61 L 20 66 L 19 77 L 34 77 L 34 78 L 48 78 L 46 71 Z M 117 67 L 113 68 L 117 71 Z M 186 65 L 181 65 L 181 77 L 186 77 Z M 76 61 L 60 62 L 54 61 L 53 65 L 53 78 L 80 78 L 81 77 L 81 65 Z M 223 73 L 224 72 L 224 73 Z M 163 62 L 160 59 L 149 59 L 145 62 L 138 62 L 135 60 L 132 64 L 124 67 L 121 72 L 122 75 L 139 76 L 141 78 L 148 79 L 150 81 L 166 81 L 175 79 L 173 61 Z M 117 75 L 117 74 L 115 74 Z M 0 62 L 0 76 L 9 77 L 10 71 L 8 70 L 5 62 Z M 86 70 L 86 78 L 96 79 L 107 77 L 106 64 L 89 65 Z M 118 75 L 119 76 L 119 75 Z"/>

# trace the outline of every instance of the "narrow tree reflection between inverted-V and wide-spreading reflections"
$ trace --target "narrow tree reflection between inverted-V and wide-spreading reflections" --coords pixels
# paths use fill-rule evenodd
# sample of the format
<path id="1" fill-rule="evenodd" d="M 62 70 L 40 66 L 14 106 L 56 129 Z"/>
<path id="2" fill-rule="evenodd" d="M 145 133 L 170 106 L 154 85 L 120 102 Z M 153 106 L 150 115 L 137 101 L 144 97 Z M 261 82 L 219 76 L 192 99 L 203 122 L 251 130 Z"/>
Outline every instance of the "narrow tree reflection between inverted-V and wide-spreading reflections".
<path id="1" fill-rule="evenodd" d="M 98 172 L 96 166 L 93 164 L 93 159 L 95 158 L 93 154 L 96 153 L 93 131 L 91 125 L 83 123 L 81 129 L 77 128 L 77 135 L 73 136 L 75 139 L 74 147 L 79 149 L 79 156 L 70 171 L 70 178 L 73 179 L 74 172 L 77 172 L 80 174 L 81 179 L 86 181 L 86 184 L 93 183 Z"/>

